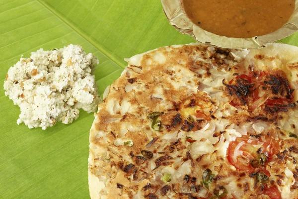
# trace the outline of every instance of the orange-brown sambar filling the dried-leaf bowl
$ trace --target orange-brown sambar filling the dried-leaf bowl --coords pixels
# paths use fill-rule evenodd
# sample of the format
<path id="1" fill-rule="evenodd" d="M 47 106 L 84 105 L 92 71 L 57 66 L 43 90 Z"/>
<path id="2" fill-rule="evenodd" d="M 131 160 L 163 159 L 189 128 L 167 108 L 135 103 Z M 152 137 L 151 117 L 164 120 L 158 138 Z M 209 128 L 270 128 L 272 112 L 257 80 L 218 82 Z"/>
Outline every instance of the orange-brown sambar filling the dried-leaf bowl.
<path id="1" fill-rule="evenodd" d="M 209 32 L 249 38 L 281 28 L 295 9 L 295 0 L 183 0 L 187 15 Z"/>

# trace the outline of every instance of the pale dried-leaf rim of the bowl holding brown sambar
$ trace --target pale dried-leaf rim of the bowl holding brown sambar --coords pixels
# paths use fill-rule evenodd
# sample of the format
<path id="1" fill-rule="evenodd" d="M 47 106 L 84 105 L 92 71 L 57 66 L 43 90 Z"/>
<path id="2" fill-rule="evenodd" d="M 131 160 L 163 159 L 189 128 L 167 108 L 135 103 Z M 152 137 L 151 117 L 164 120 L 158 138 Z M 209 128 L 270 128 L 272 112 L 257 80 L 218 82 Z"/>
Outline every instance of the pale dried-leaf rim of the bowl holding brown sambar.
<path id="1" fill-rule="evenodd" d="M 161 0 L 161 3 L 169 23 L 179 32 L 192 36 L 198 42 L 221 48 L 260 48 L 298 31 L 298 0 L 295 0 L 294 13 L 285 25 L 269 34 L 251 38 L 225 37 L 200 28 L 187 16 L 183 0 Z"/>

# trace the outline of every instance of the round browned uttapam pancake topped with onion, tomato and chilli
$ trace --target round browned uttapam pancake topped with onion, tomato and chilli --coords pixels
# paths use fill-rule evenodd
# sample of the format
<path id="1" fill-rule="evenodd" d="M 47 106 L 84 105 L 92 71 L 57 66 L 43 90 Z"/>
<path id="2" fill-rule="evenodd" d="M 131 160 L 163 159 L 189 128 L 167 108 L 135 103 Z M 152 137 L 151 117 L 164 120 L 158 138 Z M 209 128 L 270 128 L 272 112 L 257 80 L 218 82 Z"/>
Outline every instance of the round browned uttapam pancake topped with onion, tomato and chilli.
<path id="1" fill-rule="evenodd" d="M 297 55 L 297 47 L 282 44 L 253 50 L 190 44 L 127 60 L 90 130 L 91 199 L 210 199 L 221 188 L 225 199 L 268 199 L 272 189 L 282 199 L 295 198 L 298 95 L 292 99 L 290 90 L 287 100 L 286 93 L 298 89 Z M 269 100 L 287 103 L 251 109 L 259 88 Z M 153 112 L 160 113 L 159 129 L 149 117 Z M 252 149 L 240 148 L 243 140 L 253 142 Z M 254 152 L 267 153 L 268 162 L 250 168 L 246 160 Z M 268 181 L 261 182 L 265 169 Z M 204 184 L 206 171 L 214 176 Z"/>

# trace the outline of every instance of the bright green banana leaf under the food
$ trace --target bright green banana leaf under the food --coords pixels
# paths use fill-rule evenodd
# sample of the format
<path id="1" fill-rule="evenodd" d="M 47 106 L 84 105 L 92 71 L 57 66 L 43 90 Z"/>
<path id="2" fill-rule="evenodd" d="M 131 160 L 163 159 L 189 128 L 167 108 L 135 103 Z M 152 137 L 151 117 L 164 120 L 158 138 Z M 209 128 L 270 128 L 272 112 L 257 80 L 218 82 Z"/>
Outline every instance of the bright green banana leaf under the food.
<path id="1" fill-rule="evenodd" d="M 16 124 L 19 108 L 4 95 L 21 55 L 79 44 L 94 53 L 102 96 L 124 58 L 194 40 L 168 24 L 160 0 L 0 0 L 0 199 L 87 199 L 88 136 L 94 116 L 47 130 Z M 298 45 L 298 34 L 283 39 Z"/>

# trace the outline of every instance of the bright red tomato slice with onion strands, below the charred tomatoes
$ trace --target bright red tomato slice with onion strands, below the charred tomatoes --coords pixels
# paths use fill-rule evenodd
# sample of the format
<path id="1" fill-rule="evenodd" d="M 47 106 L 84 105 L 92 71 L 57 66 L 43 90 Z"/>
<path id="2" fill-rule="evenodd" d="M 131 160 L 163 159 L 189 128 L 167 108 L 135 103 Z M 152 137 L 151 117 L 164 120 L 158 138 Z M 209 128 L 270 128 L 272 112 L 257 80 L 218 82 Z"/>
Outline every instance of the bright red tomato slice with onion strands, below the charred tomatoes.
<path id="1" fill-rule="evenodd" d="M 259 146 L 259 147 L 258 147 Z M 249 139 L 248 136 L 236 138 L 235 141 L 229 143 L 227 148 L 227 160 L 236 169 L 252 172 L 257 168 L 250 165 L 250 160 L 258 156 L 258 149 L 262 147 L 261 153 L 267 153 L 267 162 L 272 159 L 273 154 L 277 154 L 279 144 L 272 138 L 266 138 L 266 142 Z"/>

